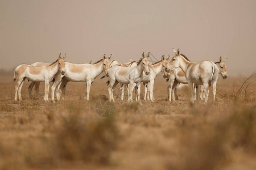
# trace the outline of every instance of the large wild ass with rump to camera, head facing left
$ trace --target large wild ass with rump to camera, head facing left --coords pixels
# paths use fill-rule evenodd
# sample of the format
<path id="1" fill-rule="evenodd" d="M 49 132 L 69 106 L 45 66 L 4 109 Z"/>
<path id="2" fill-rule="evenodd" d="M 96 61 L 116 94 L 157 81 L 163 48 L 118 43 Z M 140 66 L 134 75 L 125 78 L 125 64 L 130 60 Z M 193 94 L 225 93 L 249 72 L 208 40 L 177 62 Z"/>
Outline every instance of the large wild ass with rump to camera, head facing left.
<path id="1" fill-rule="evenodd" d="M 180 67 L 185 73 L 185 77 L 188 80 L 188 86 L 191 89 L 191 102 L 195 102 L 195 95 L 193 90 L 193 83 L 196 87 L 197 100 L 199 100 L 199 89 L 198 85 L 203 84 L 204 90 L 206 92 L 205 103 L 207 103 L 209 91 L 208 83 L 212 82 L 213 85 L 213 101 L 215 101 L 216 95 L 216 83 L 218 80 L 218 67 L 212 61 L 202 61 L 202 62 L 190 62 L 180 55 L 179 49 L 173 48 L 175 56 L 172 57 L 171 61 L 166 66 L 166 71 L 170 72 L 175 68 Z"/>

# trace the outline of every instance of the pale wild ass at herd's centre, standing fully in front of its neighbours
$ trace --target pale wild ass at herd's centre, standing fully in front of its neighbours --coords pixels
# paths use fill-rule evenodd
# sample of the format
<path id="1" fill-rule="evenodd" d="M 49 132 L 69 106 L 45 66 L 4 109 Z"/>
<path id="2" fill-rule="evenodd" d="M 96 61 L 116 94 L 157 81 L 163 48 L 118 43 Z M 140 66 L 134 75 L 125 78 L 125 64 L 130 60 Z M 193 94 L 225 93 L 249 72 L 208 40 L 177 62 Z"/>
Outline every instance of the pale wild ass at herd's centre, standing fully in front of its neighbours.
<path id="1" fill-rule="evenodd" d="M 113 88 L 117 86 L 118 83 L 121 84 L 129 84 L 129 97 L 128 101 L 133 101 L 133 97 L 131 93 L 133 92 L 134 87 L 137 85 L 139 86 L 142 81 L 142 73 L 145 71 L 146 75 L 150 73 L 150 70 L 148 68 L 148 65 L 150 62 L 148 62 L 147 57 L 144 56 L 144 52 L 142 53 L 142 58 L 138 61 L 137 66 L 134 67 L 123 67 L 120 65 L 114 65 L 111 69 L 108 71 L 109 75 L 109 100 L 114 101 L 114 95 L 113 95 Z M 138 89 L 138 102 L 141 104 L 140 99 L 140 89 Z"/>

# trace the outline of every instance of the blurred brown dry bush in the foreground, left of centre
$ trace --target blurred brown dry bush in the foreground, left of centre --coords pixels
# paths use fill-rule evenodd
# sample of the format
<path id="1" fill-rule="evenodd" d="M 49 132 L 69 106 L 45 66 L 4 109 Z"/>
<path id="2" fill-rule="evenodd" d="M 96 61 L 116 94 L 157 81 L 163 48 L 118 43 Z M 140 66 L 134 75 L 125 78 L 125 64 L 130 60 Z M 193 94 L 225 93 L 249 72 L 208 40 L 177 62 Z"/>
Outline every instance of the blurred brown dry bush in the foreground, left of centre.
<path id="1" fill-rule="evenodd" d="M 114 117 L 91 120 L 69 106 L 55 128 L 57 152 L 66 160 L 83 160 L 105 164 L 117 142 L 117 128 Z"/>

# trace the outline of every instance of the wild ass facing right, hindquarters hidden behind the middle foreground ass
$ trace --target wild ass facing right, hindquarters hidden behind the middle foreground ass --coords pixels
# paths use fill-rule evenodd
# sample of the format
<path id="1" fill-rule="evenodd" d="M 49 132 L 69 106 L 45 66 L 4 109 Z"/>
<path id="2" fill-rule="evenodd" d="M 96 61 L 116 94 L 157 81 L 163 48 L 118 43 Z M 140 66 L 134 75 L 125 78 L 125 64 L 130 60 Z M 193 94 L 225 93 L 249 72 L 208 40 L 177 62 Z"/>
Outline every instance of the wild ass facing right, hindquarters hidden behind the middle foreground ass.
<path id="1" fill-rule="evenodd" d="M 155 62 L 153 64 L 150 64 L 148 67 L 150 69 L 150 74 L 146 75 L 143 72 L 142 76 L 142 82 L 145 83 L 145 94 L 144 94 L 144 100 L 154 101 L 154 82 L 156 76 L 162 71 L 162 73 L 165 73 L 164 68 L 168 64 L 168 57 L 167 59 L 164 59 L 164 55 L 162 56 L 161 60 L 158 62 Z M 139 87 L 140 88 L 140 87 Z M 149 97 L 150 95 L 150 97 Z"/>

